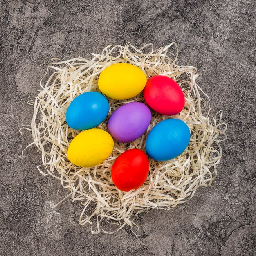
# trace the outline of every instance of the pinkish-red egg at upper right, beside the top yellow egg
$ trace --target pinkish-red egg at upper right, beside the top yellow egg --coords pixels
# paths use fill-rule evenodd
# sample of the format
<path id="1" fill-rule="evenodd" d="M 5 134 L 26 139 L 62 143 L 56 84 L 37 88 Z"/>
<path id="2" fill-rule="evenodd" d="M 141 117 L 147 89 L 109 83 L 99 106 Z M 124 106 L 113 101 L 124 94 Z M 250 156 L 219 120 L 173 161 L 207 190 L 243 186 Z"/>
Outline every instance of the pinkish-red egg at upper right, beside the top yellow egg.
<path id="1" fill-rule="evenodd" d="M 176 115 L 185 105 L 180 86 L 168 76 L 153 76 L 148 79 L 143 94 L 148 106 L 162 115 Z"/>

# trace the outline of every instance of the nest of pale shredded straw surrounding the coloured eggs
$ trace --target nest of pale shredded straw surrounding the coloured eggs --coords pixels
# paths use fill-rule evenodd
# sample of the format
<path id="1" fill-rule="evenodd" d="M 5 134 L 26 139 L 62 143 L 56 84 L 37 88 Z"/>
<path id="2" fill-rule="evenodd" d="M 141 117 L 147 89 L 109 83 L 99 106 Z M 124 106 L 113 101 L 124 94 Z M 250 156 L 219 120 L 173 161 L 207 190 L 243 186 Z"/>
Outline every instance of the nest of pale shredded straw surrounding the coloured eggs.
<path id="1" fill-rule="evenodd" d="M 83 211 L 81 225 L 91 225 L 91 231 L 111 233 L 128 224 L 136 225 L 135 216 L 152 208 L 172 209 L 190 200 L 200 186 L 211 186 L 217 175 L 221 158 L 220 142 L 226 139 L 226 124 L 222 112 L 209 115 L 210 101 L 197 85 L 197 69 L 177 63 L 178 49 L 175 43 L 154 49 L 147 44 L 137 49 L 130 43 L 125 46 L 108 45 L 100 54 L 92 54 L 87 60 L 79 57 L 67 61 L 52 59 L 40 82 L 42 90 L 35 101 L 31 129 L 35 145 L 42 154 L 42 164 L 37 168 L 43 175 L 51 175 L 69 189 L 73 201 L 79 201 Z M 115 141 L 112 154 L 102 164 L 81 168 L 67 159 L 70 140 L 79 131 L 66 124 L 65 113 L 71 101 L 83 92 L 97 91 L 99 74 L 114 63 L 130 63 L 139 67 L 147 78 L 165 75 L 174 79 L 185 95 L 185 107 L 175 116 L 152 113 L 147 131 L 130 143 Z M 143 93 L 128 100 L 109 99 L 109 113 L 98 128 L 107 131 L 110 115 L 127 102 L 143 102 Z M 177 118 L 186 122 L 191 131 L 189 146 L 184 153 L 170 161 L 157 162 L 149 159 L 149 175 L 139 189 L 129 192 L 118 190 L 111 179 L 115 159 L 124 151 L 139 148 L 145 152 L 146 137 L 162 120 Z M 39 119 L 39 120 L 38 120 Z M 65 198 L 64 198 L 65 199 Z M 64 200 L 63 199 L 63 200 Z M 103 224 L 104 223 L 104 224 Z M 117 224 L 116 228 L 108 223 Z M 108 230 L 105 230 L 108 227 Z"/>

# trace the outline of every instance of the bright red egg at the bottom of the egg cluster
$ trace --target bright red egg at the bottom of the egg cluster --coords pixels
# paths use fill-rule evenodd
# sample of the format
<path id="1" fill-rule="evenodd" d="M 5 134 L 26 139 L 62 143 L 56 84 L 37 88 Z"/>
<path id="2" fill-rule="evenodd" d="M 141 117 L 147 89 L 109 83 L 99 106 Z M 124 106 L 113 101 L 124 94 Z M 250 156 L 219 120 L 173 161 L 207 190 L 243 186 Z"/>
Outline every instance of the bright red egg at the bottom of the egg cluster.
<path id="1" fill-rule="evenodd" d="M 149 162 L 146 154 L 134 148 L 125 151 L 115 160 L 111 177 L 115 186 L 122 191 L 139 188 L 147 179 Z"/>

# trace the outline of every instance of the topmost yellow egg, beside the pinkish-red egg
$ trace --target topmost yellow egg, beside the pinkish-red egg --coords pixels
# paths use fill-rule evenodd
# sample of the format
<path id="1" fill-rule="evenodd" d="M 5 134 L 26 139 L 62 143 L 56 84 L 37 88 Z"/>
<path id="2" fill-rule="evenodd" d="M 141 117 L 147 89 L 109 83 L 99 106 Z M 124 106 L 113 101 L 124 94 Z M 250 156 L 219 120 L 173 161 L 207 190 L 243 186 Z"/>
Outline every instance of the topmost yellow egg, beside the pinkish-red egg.
<path id="1" fill-rule="evenodd" d="M 99 76 L 99 89 L 112 99 L 129 99 L 139 94 L 147 82 L 139 67 L 117 63 L 107 67 Z"/>

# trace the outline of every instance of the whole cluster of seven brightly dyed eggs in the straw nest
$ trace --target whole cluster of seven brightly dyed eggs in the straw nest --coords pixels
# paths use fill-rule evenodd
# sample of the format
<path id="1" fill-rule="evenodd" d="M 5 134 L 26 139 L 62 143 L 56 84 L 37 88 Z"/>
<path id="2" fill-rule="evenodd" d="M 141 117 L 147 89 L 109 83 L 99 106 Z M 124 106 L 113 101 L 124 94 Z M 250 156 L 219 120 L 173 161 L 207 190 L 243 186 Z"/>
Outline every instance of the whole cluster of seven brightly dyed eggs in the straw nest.
<path id="1" fill-rule="evenodd" d="M 162 115 L 176 115 L 184 108 L 185 98 L 180 86 L 167 76 L 146 79 L 142 70 L 128 63 L 110 65 L 101 72 L 99 89 L 112 99 L 129 99 L 143 89 L 148 106 Z M 77 96 L 67 108 L 67 125 L 83 130 L 71 141 L 68 159 L 81 167 L 101 164 L 112 153 L 115 139 L 128 143 L 141 137 L 148 129 L 151 111 L 140 102 L 130 102 L 117 108 L 108 121 L 108 132 L 97 129 L 107 117 L 108 100 L 99 92 Z M 180 119 L 166 119 L 156 124 L 146 139 L 146 153 L 156 161 L 167 161 L 180 155 L 188 146 L 190 130 Z M 148 177 L 147 155 L 130 149 L 115 160 L 111 177 L 115 186 L 130 191 L 141 186 Z"/>

